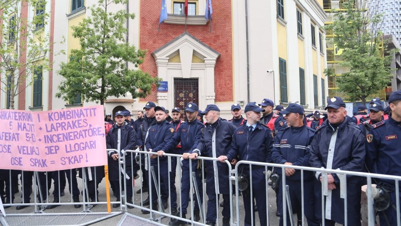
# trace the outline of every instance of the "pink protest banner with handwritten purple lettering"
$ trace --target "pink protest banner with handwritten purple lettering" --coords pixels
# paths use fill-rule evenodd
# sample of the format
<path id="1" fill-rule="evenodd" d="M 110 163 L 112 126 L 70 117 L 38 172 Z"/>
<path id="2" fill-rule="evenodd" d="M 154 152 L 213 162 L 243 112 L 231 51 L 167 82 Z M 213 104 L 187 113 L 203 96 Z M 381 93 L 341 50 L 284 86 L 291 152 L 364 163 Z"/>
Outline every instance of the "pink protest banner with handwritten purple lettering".
<path id="1" fill-rule="evenodd" d="M 0 169 L 57 171 L 107 164 L 103 106 L 0 109 Z"/>

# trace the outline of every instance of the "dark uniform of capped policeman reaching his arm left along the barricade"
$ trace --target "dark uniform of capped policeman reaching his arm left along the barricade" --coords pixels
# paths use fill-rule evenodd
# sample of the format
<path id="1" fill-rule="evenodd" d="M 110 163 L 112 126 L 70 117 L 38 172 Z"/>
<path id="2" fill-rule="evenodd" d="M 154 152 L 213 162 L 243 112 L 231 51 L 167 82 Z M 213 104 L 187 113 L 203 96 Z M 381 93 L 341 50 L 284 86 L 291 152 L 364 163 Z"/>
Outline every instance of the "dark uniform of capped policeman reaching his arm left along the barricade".
<path id="1" fill-rule="evenodd" d="M 193 120 L 192 122 L 181 122 L 179 129 L 175 132 L 174 136 L 170 139 L 170 141 L 162 148 L 162 150 L 171 150 L 176 147 L 177 144 L 181 143 L 180 153 L 182 155 L 184 153 L 192 153 L 193 150 L 198 145 L 200 138 L 202 138 L 202 132 L 205 125 L 198 121 Z M 189 159 L 181 160 L 181 168 L 182 168 L 182 176 L 181 176 L 181 213 L 187 214 L 187 208 L 189 203 L 189 194 L 190 194 L 190 178 L 192 178 L 192 174 L 190 173 L 189 168 Z M 197 169 L 197 161 L 192 160 L 192 171 L 195 174 L 198 174 Z M 202 181 L 196 177 L 197 185 L 199 188 L 199 193 L 203 194 L 203 186 Z M 196 198 L 195 198 L 196 200 Z M 202 201 L 202 197 L 201 197 Z M 198 204 L 195 203 L 194 209 L 198 210 Z"/>

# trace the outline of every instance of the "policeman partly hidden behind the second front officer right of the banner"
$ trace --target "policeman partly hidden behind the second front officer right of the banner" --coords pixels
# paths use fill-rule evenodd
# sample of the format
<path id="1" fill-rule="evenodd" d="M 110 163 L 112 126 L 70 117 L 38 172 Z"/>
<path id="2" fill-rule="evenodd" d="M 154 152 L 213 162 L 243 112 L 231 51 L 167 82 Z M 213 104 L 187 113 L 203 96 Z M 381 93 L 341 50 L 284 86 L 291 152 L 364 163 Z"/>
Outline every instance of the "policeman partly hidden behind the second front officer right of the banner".
<path id="1" fill-rule="evenodd" d="M 145 144 L 145 138 L 146 135 L 148 134 L 149 128 L 156 124 L 156 118 L 155 118 L 155 108 L 156 104 L 153 103 L 152 101 L 149 101 L 148 103 L 145 104 L 143 107 L 143 110 L 145 110 L 145 116 L 143 116 L 143 121 L 140 124 L 139 128 L 137 129 L 137 137 L 136 140 L 138 142 L 138 146 L 140 150 L 144 150 L 144 144 Z M 147 155 L 140 155 L 141 158 L 141 171 L 142 171 L 142 187 L 141 189 L 137 192 L 137 194 L 142 192 L 148 192 L 148 198 L 142 202 L 143 205 L 149 205 L 149 190 L 148 190 L 148 181 L 149 181 L 149 173 L 148 173 L 148 163 L 147 163 Z M 146 186 L 145 186 L 146 184 Z"/>

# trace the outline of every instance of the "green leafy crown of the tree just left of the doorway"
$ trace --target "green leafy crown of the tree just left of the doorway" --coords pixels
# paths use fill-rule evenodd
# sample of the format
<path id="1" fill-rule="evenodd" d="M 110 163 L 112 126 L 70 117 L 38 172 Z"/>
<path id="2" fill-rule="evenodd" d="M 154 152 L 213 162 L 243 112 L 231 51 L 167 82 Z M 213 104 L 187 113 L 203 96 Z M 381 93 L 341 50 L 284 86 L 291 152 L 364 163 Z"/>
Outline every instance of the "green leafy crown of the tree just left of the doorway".
<path id="1" fill-rule="evenodd" d="M 90 17 L 72 27 L 81 48 L 71 50 L 71 60 L 60 65 L 58 73 L 65 80 L 59 85 L 56 97 L 72 101 L 81 93 L 83 101 L 103 104 L 111 96 L 126 97 L 129 93 L 132 98 L 143 98 L 150 94 L 159 79 L 138 68 L 145 51 L 125 42 L 125 23 L 134 14 L 109 11 L 110 4 L 126 2 L 99 1 L 98 5 L 88 7 L 92 11 Z"/>

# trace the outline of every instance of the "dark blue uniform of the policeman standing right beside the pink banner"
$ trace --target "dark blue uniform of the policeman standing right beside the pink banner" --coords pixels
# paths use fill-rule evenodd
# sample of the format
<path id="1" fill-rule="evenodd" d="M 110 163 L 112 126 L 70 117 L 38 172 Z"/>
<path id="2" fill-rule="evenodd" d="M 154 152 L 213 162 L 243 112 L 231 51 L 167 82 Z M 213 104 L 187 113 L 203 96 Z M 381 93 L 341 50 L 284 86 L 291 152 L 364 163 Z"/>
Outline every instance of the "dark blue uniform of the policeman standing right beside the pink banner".
<path id="1" fill-rule="evenodd" d="M 118 113 L 117 113 L 118 114 Z M 120 130 L 120 140 L 118 140 L 118 133 Z M 106 136 L 106 146 L 107 148 L 113 148 L 118 150 L 118 143 L 120 143 L 120 153 L 119 156 L 125 156 L 125 172 L 129 177 L 126 179 L 126 196 L 130 199 L 132 198 L 132 171 L 134 174 L 139 170 L 139 166 L 136 163 L 135 159 L 133 159 L 133 155 L 131 153 L 126 154 L 125 150 L 132 150 L 136 145 L 136 133 L 135 130 L 131 126 L 127 126 L 123 124 L 122 126 L 118 126 L 117 123 L 113 125 L 113 127 L 108 131 Z M 108 175 L 110 178 L 110 182 L 113 183 L 113 192 L 118 196 L 119 199 L 120 194 L 120 183 L 119 178 L 121 176 L 121 172 L 119 172 L 118 160 L 113 160 L 111 156 L 116 154 L 115 151 L 108 152 Z"/>

